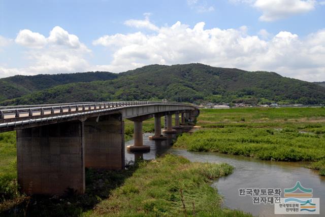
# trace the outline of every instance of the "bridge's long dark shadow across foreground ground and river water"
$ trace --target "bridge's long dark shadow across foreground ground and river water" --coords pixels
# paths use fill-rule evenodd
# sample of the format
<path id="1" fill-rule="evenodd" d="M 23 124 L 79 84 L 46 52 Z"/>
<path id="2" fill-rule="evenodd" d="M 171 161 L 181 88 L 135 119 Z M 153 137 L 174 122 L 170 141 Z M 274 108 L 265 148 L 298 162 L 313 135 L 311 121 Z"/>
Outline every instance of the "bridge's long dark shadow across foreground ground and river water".
<path id="1" fill-rule="evenodd" d="M 86 168 L 85 194 L 78 195 L 73 189 L 68 189 L 66 194 L 60 197 L 32 195 L 9 205 L 11 208 L 0 212 L 0 216 L 79 216 L 109 198 L 112 191 L 122 186 L 125 179 L 137 170 L 138 162 L 163 156 L 172 147 L 177 135 L 191 129 L 191 126 L 185 126 L 177 130 L 177 134 L 167 134 L 166 140 L 149 140 L 148 136 L 153 134 L 144 133 L 144 145 L 150 146 L 150 152 L 128 152 L 126 146 L 133 144 L 133 140 L 125 142 L 125 170 Z"/>

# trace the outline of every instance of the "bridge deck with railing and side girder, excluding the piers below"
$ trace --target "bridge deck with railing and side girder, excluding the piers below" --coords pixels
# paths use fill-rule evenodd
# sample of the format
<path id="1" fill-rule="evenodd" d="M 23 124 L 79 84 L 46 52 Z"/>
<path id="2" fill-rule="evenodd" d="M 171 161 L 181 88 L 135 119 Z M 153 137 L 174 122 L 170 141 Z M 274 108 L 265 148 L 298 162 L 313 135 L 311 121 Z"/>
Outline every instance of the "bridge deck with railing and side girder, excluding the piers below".
<path id="1" fill-rule="evenodd" d="M 158 107 L 154 107 L 158 106 Z M 140 108 L 142 111 L 133 111 Z M 122 102 L 86 102 L 45 105 L 22 105 L 0 107 L 0 132 L 46 125 L 80 118 L 88 118 L 112 113 L 123 114 L 122 118 L 133 118 L 158 112 L 195 110 L 190 104 L 166 101 L 122 101 Z"/>

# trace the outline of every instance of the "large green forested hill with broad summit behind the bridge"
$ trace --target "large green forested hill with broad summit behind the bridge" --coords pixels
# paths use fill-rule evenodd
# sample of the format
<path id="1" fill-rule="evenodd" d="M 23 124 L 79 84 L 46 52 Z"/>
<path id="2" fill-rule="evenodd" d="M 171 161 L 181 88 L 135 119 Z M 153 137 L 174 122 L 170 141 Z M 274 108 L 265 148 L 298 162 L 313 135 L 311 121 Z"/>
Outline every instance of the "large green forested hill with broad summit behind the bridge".
<path id="1" fill-rule="evenodd" d="M 325 103 L 324 93 L 324 87 L 276 73 L 192 63 L 148 65 L 120 73 L 112 80 L 54 86 L 0 104 L 153 99 L 318 104 Z"/>

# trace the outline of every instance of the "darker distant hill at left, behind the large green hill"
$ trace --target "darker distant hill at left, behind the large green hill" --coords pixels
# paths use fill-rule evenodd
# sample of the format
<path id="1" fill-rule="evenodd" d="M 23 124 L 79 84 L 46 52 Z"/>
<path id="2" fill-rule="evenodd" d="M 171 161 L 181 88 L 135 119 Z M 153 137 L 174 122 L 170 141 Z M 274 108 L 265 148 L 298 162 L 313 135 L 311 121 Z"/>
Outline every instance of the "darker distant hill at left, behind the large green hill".
<path id="1" fill-rule="evenodd" d="M 17 98 L 28 93 L 48 89 L 57 85 L 75 82 L 105 81 L 117 78 L 108 72 L 88 72 L 57 75 L 13 76 L 0 79 L 0 101 Z"/>

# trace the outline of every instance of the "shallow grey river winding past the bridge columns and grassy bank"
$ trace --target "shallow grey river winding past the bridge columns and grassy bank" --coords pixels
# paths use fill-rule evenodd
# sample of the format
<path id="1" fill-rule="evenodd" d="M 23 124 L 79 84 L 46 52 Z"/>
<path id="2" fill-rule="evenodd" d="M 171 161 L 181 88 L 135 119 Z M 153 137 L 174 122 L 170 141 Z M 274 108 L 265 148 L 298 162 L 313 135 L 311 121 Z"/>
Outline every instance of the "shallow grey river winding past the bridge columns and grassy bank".
<path id="1" fill-rule="evenodd" d="M 179 131 L 180 132 L 180 131 Z M 226 162 L 235 167 L 235 171 L 228 176 L 221 177 L 212 184 L 223 196 L 223 206 L 231 209 L 240 209 L 258 216 L 281 216 L 274 214 L 274 205 L 254 205 L 252 197 L 239 196 L 239 189 L 278 189 L 292 188 L 300 181 L 305 188 L 313 189 L 313 198 L 320 198 L 320 216 L 325 216 L 325 177 L 317 172 L 304 168 L 302 163 L 272 162 L 256 160 L 248 157 L 225 155 L 219 153 L 188 152 L 181 149 L 173 149 L 172 142 L 176 135 L 168 135 L 167 140 L 149 140 L 152 133 L 144 133 L 144 145 L 150 146 L 148 153 L 135 154 L 125 149 L 125 161 L 133 162 L 137 158 L 146 160 L 154 159 L 166 153 L 184 156 L 193 162 Z M 133 144 L 133 140 L 125 142 L 125 147 Z M 288 216 L 288 215 L 282 215 Z M 304 215 L 292 215 L 304 216 Z M 312 215 L 306 215 L 312 216 Z"/>

